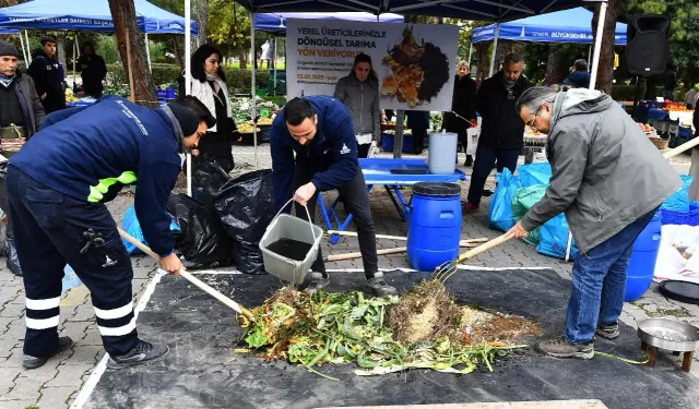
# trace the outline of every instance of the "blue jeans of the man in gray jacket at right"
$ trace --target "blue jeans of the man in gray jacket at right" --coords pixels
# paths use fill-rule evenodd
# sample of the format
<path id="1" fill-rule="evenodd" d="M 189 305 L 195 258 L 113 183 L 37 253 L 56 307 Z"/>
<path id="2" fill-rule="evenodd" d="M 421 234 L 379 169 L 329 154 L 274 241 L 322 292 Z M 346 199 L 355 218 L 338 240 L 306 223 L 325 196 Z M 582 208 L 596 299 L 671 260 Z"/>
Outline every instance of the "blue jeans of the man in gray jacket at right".
<path id="1" fill-rule="evenodd" d="M 566 338 L 570 344 L 589 342 L 597 323 L 615 324 L 621 315 L 626 274 L 633 243 L 655 210 L 624 230 L 579 254 L 572 266 L 572 291 L 566 313 Z"/>

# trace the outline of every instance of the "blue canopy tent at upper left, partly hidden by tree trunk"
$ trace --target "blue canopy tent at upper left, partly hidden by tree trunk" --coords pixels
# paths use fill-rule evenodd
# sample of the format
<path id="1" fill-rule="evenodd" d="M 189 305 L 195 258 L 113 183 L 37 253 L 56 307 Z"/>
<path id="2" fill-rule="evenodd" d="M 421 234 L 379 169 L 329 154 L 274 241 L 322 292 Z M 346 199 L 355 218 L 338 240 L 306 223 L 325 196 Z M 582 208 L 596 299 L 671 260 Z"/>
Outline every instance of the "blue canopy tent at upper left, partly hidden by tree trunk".
<path id="1" fill-rule="evenodd" d="M 145 34 L 146 56 L 151 67 L 149 34 L 185 34 L 185 19 L 157 8 L 145 0 L 134 0 L 139 31 Z M 0 9 L 0 27 L 45 31 L 114 32 L 107 0 L 71 0 L 57 4 L 55 0 L 34 0 Z M 190 32 L 197 34 L 197 23 L 190 21 Z M 25 33 L 26 48 L 29 48 Z M 73 71 L 78 46 L 73 50 Z M 26 52 L 25 52 L 26 59 Z"/>

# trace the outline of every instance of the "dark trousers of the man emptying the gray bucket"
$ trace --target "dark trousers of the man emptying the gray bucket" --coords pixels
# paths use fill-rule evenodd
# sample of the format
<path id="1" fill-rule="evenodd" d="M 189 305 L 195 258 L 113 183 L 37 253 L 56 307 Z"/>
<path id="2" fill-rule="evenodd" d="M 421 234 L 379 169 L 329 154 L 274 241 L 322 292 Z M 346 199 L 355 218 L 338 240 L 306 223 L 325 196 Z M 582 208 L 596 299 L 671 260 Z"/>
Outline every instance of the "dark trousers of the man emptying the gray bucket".
<path id="1" fill-rule="evenodd" d="M 325 169 L 297 165 L 294 171 L 294 191 L 310 182 L 313 175 L 324 170 Z M 318 200 L 318 193 L 319 192 L 316 192 L 313 197 L 308 201 L 307 205 L 311 221 L 315 221 L 316 219 L 316 201 Z M 374 230 L 374 218 L 371 218 L 371 210 L 369 208 L 369 194 L 367 193 L 367 185 L 364 181 L 362 170 L 357 171 L 357 176 L 353 180 L 346 182 L 342 187 L 339 187 L 337 193 L 340 194 L 340 197 L 342 197 L 347 212 L 353 215 L 354 222 L 357 226 L 359 251 L 362 252 L 362 262 L 364 264 L 364 275 L 369 278 L 374 277 L 374 273 L 379 270 L 379 260 L 376 254 L 376 232 Z M 308 219 L 306 209 L 304 209 L 304 206 L 298 203 L 296 203 L 296 217 L 305 220 Z M 328 276 L 321 251 L 318 251 L 318 258 L 316 258 L 311 268 L 313 272 L 322 273 L 323 276 Z"/>

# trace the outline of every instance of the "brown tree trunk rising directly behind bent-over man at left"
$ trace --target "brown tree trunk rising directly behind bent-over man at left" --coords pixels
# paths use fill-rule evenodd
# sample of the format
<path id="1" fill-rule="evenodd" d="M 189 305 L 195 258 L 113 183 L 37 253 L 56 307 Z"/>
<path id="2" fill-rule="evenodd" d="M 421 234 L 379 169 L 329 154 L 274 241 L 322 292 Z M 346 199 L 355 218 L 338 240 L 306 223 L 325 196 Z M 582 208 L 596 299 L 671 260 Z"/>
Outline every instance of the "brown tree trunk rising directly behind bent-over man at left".
<path id="1" fill-rule="evenodd" d="M 133 0 L 109 0 L 111 20 L 117 33 L 117 49 L 121 55 L 123 72 L 133 82 L 133 100 L 139 105 L 150 108 L 157 108 L 157 97 L 155 96 L 155 84 L 149 70 L 145 56 L 145 43 L 139 33 L 135 21 L 135 7 Z M 127 34 L 129 40 L 129 56 L 127 56 Z M 128 58 L 127 58 L 128 57 Z M 131 60 L 131 67 L 129 67 Z"/>

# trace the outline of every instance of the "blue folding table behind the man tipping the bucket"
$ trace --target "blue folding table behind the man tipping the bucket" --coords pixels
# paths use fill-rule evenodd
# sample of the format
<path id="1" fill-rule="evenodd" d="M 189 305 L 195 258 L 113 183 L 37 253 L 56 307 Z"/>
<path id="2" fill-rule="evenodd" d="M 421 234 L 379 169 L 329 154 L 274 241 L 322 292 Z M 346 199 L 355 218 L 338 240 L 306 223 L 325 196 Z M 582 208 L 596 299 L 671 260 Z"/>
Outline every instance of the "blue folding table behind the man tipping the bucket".
<path id="1" fill-rule="evenodd" d="M 455 169 L 452 175 L 430 175 L 425 159 L 359 159 L 359 167 L 364 173 L 367 192 L 370 192 L 376 184 L 383 185 L 403 221 L 407 221 L 408 204 L 399 187 L 408 187 L 417 182 L 455 183 L 460 180 L 466 180 L 465 173 L 459 169 Z M 347 215 L 344 221 L 340 220 L 335 212 L 337 203 L 340 203 L 340 196 L 330 207 L 325 207 L 321 195 L 318 195 L 320 214 L 328 230 L 344 231 L 352 221 L 352 215 Z M 336 228 L 333 228 L 333 222 L 337 226 Z M 330 242 L 335 244 L 337 240 L 340 240 L 340 236 L 332 236 Z"/>

